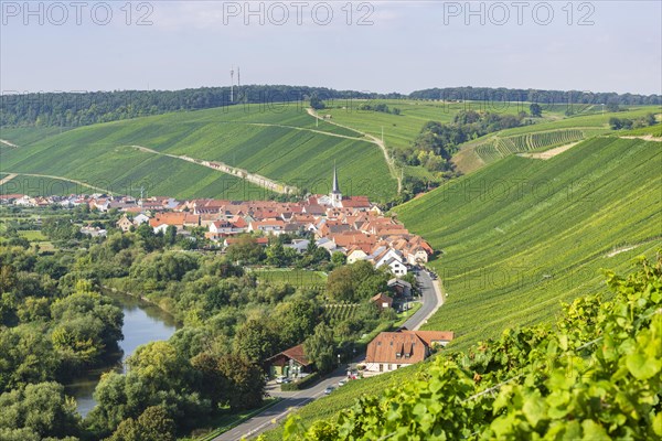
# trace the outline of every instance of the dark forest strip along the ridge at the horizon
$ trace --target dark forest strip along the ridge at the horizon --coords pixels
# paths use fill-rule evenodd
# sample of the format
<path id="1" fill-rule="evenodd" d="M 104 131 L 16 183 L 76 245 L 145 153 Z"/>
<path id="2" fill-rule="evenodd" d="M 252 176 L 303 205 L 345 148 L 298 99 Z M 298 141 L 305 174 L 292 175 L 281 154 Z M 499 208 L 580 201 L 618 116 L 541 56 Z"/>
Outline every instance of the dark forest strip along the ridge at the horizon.
<path id="1" fill-rule="evenodd" d="M 660 95 L 586 93 L 578 90 L 508 89 L 489 87 L 447 87 L 398 93 L 373 94 L 335 90 L 327 87 L 249 85 L 201 87 L 183 90 L 115 90 L 67 93 L 10 93 L 0 96 L 0 127 L 61 126 L 77 127 L 181 110 L 199 110 L 237 104 L 300 101 L 308 107 L 311 97 L 322 103 L 332 99 L 445 99 L 532 101 L 540 104 L 659 105 Z M 322 107 L 320 107 L 322 108 Z M 385 109 L 377 109 L 383 111 Z M 397 111 L 396 109 L 389 111 Z"/>

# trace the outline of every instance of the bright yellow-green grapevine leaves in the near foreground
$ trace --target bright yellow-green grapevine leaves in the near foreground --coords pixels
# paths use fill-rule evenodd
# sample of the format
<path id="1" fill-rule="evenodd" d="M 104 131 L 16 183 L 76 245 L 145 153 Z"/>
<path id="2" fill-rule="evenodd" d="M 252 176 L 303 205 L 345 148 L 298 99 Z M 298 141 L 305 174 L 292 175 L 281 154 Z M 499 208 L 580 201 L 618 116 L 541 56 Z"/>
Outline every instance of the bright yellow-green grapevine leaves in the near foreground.
<path id="1" fill-rule="evenodd" d="M 564 304 L 556 326 L 506 330 L 436 357 L 416 378 L 330 421 L 285 424 L 293 440 L 662 439 L 662 258 L 610 300 Z"/>

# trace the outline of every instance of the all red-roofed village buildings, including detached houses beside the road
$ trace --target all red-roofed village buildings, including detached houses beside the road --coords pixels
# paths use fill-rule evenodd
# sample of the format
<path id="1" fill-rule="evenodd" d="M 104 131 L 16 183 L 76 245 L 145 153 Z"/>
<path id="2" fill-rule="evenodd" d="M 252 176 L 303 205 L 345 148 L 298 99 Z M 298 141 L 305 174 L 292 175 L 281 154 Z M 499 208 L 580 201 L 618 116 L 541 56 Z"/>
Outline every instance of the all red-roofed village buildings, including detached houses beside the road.
<path id="1" fill-rule="evenodd" d="M 306 252 L 313 241 L 317 248 L 328 252 L 329 259 L 340 254 L 348 265 L 363 260 L 391 272 L 389 292 L 378 292 L 371 299 L 378 310 L 391 309 L 395 306 L 394 302 L 403 304 L 412 300 L 415 288 L 402 278 L 409 272 L 417 273 L 434 254 L 427 241 L 410 234 L 395 218 L 385 216 L 367 197 L 343 196 L 335 168 L 328 195 L 309 195 L 300 202 L 8 194 L 0 195 L 0 203 L 24 207 L 86 206 L 102 213 L 116 211 L 120 217 L 115 226 L 125 233 L 148 225 L 154 234 L 174 229 L 177 235 L 195 240 L 192 229 L 203 228 L 204 238 L 221 252 L 246 235 L 263 247 L 269 246 L 270 238 L 289 235 L 291 240 L 284 247 L 297 254 Z M 93 237 L 107 234 L 98 226 L 83 226 L 81 233 Z M 354 363 L 346 376 L 355 379 L 378 375 L 421 362 L 452 338 L 452 332 L 417 331 L 405 326 L 382 332 L 367 344 L 365 358 Z M 271 356 L 265 364 L 271 378 L 281 384 L 302 381 L 314 372 L 302 344 Z M 344 381 L 340 381 L 342 384 Z"/>

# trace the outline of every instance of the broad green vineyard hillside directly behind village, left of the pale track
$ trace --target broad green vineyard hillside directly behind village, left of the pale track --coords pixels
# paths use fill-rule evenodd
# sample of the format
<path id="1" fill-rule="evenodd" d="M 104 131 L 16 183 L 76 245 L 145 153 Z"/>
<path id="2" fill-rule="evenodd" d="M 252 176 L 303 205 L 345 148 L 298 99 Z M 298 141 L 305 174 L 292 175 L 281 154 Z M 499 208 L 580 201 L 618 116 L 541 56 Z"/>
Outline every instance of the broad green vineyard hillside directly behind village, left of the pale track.
<path id="1" fill-rule="evenodd" d="M 175 197 L 267 196 L 238 178 L 132 147 L 142 146 L 222 161 L 320 193 L 328 192 L 335 162 L 343 193 L 376 201 L 395 194 L 397 182 L 375 144 L 352 130 L 316 122 L 293 106 L 235 106 L 82 127 L 0 150 L 2 171 L 85 180 L 118 193 L 136 194 L 145 186 L 150 194 Z"/>

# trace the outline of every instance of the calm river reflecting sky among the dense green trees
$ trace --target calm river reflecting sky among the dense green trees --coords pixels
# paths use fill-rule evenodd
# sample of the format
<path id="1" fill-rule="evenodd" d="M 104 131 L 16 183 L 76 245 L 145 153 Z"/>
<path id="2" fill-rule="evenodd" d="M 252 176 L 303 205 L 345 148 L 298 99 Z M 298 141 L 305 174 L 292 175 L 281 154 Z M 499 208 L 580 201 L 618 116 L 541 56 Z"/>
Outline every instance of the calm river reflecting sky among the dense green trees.
<path id="1" fill-rule="evenodd" d="M 90 370 L 74 378 L 65 386 L 66 394 L 76 398 L 78 412 L 83 417 L 96 405 L 92 394 L 103 373 L 111 369 L 124 372 L 124 361 L 138 346 L 153 341 L 168 340 L 178 329 L 172 315 L 153 304 L 119 293 L 107 293 L 107 295 L 115 299 L 124 312 L 124 326 L 121 327 L 124 340 L 119 342 L 119 348 L 122 351 L 122 363 Z"/>

